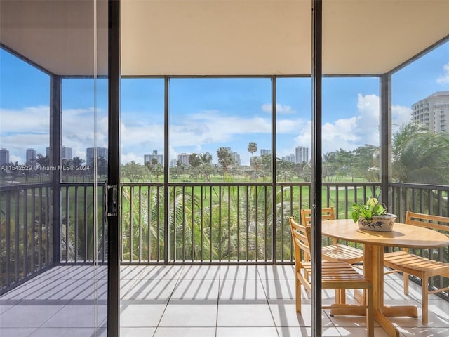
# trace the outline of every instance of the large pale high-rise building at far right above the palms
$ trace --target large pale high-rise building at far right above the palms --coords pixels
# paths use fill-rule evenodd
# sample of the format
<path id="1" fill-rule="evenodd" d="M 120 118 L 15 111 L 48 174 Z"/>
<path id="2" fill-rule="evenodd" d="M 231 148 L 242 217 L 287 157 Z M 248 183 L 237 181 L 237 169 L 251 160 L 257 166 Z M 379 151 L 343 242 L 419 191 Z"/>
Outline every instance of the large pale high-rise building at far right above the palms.
<path id="1" fill-rule="evenodd" d="M 412 105 L 412 120 L 429 130 L 449 131 L 449 91 L 438 91 Z"/>

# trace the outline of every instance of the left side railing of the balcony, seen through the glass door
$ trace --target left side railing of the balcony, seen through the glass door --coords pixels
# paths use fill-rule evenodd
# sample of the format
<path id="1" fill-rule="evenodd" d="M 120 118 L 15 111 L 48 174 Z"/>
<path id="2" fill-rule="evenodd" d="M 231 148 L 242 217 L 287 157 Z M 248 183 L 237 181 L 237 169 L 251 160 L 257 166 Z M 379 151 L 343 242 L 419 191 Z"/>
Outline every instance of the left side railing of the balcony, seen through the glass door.
<path id="1" fill-rule="evenodd" d="M 51 193 L 48 183 L 1 186 L 0 290 L 51 265 Z"/>

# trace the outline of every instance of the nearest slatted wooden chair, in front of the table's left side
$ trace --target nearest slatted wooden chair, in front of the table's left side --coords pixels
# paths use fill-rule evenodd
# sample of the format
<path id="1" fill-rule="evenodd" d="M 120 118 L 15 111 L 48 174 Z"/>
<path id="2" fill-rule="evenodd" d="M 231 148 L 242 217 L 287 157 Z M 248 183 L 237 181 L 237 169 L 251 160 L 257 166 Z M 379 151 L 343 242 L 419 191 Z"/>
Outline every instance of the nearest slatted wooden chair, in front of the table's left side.
<path id="1" fill-rule="evenodd" d="M 308 293 L 311 293 L 311 263 L 309 259 L 304 260 L 302 256 L 310 256 L 311 246 L 311 227 L 296 223 L 293 217 L 290 217 L 290 229 L 292 232 L 293 246 L 295 247 L 295 298 L 296 312 L 301 312 L 301 284 Z M 354 270 L 349 263 L 340 261 L 323 261 L 321 265 L 321 288 L 338 289 L 365 289 L 368 294 L 366 304 L 349 305 L 333 304 L 323 305 L 323 309 L 344 308 L 347 315 L 351 314 L 351 309 L 366 309 L 366 329 L 367 336 L 374 336 L 374 310 L 373 310 L 373 282 L 366 279 L 363 275 Z M 354 311 L 354 315 L 359 315 Z"/>

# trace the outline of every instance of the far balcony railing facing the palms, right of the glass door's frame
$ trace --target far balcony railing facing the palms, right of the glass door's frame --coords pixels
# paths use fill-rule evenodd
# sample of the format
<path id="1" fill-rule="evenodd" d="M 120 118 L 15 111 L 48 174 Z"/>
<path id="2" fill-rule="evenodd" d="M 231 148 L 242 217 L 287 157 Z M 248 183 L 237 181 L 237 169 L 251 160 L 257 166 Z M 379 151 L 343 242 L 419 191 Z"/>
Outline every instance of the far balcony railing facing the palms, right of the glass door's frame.
<path id="1" fill-rule="evenodd" d="M 347 218 L 379 189 L 325 183 L 323 202 Z M 163 184 L 121 185 L 123 263 L 291 263 L 288 217 L 310 207 L 309 183 L 170 183 L 167 195 Z"/>

